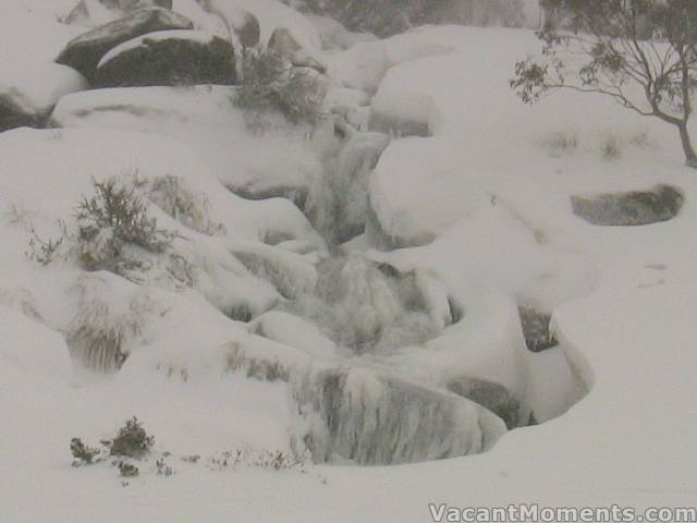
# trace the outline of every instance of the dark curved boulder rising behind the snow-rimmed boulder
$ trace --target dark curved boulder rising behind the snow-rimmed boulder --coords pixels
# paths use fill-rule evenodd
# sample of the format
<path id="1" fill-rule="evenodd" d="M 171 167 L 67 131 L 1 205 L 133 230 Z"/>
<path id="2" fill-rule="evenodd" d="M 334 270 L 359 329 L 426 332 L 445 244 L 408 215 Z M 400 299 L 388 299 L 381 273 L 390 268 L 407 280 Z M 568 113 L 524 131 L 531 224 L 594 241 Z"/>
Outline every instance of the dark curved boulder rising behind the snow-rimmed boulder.
<path id="1" fill-rule="evenodd" d="M 56 61 L 93 81 L 99 60 L 118 45 L 155 31 L 193 28 L 193 22 L 181 14 L 161 8 L 142 9 L 72 39 Z"/>

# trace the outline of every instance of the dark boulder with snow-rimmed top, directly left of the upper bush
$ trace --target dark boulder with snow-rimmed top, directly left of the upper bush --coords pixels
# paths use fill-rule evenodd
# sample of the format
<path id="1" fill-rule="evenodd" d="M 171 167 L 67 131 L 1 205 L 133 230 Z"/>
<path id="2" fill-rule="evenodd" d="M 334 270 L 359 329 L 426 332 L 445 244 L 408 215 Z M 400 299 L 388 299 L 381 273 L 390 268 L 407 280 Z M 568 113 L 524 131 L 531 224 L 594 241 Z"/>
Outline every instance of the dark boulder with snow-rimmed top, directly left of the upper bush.
<path id="1" fill-rule="evenodd" d="M 235 57 L 223 38 L 198 32 L 168 32 L 144 36 L 100 64 L 100 87 L 196 85 L 235 82 Z M 118 51 L 118 50 L 117 50 Z"/>

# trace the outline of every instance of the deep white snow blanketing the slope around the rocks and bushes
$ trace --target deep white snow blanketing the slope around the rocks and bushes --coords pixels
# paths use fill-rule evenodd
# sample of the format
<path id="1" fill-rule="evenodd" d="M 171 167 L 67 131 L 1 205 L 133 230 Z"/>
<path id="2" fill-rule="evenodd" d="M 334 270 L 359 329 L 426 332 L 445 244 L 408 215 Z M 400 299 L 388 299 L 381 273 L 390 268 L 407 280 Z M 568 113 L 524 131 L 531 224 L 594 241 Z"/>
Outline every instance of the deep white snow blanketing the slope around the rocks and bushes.
<path id="1" fill-rule="evenodd" d="M 345 104 L 348 121 L 377 114 L 424 131 L 392 139 L 356 190 L 327 182 L 328 166 L 366 170 L 346 155 L 326 158 L 339 147 L 331 125 L 311 137 L 281 122 L 252 134 L 228 88 L 73 93 L 80 82 L 51 63 L 84 31 L 58 22 L 72 3 L 0 5 L 0 88 L 24 89 L 35 107 L 60 99 L 58 129 L 0 134 L 2 521 L 416 523 L 431 521 L 429 502 L 695 504 L 697 175 L 671 127 L 601 97 L 560 93 L 524 106 L 508 80 L 538 48 L 529 31 L 421 28 L 321 51 L 310 20 L 272 0 L 240 0 L 262 39 L 289 26 L 327 63 L 329 98 Z M 215 26 L 193 0 L 174 9 Z M 608 141 L 617 157 L 603 156 Z M 378 137 L 356 150 L 374 158 L 383 145 Z M 172 256 L 148 258 L 142 281 L 27 258 L 32 229 L 48 239 L 57 220 L 70 226 L 93 180 L 136 173 L 158 224 L 178 232 Z M 171 212 L 157 190 L 168 180 L 196 212 Z M 571 195 L 658 183 L 684 195 L 673 220 L 602 228 L 572 212 Z M 338 186 L 369 193 L 369 208 L 355 203 L 369 215 L 367 232 L 345 246 L 353 253 L 339 269 L 328 260 L 337 246 L 321 235 L 331 221 L 322 198 Z M 366 260 L 414 283 L 394 291 Z M 331 306 L 307 297 L 327 275 L 343 289 Z M 412 287 L 426 295 L 424 315 L 400 308 L 395 296 Z M 527 351 L 519 304 L 553 313 L 559 348 Z M 89 318 L 121 333 L 129 358 L 119 373 L 71 362 Z M 359 338 L 376 318 L 393 338 L 375 353 L 347 354 L 332 338 L 340 327 Z M 402 337 L 417 324 L 423 337 Z M 236 449 L 297 450 L 306 427 L 292 377 L 348 367 L 418 384 L 427 398 L 455 378 L 487 379 L 545 423 L 508 431 L 481 454 L 400 466 L 339 457 L 283 471 L 220 465 Z M 389 400 L 370 384 L 356 393 Z M 486 425 L 465 411 L 462 419 Z M 157 475 L 151 459 L 124 486 L 108 464 L 71 466 L 72 437 L 94 445 L 133 415 L 158 455 L 171 452 L 174 475 Z M 409 434 L 427 433 L 423 419 L 439 418 L 412 417 Z M 498 437 L 494 425 L 486 430 Z M 200 462 L 180 459 L 193 454 Z"/>

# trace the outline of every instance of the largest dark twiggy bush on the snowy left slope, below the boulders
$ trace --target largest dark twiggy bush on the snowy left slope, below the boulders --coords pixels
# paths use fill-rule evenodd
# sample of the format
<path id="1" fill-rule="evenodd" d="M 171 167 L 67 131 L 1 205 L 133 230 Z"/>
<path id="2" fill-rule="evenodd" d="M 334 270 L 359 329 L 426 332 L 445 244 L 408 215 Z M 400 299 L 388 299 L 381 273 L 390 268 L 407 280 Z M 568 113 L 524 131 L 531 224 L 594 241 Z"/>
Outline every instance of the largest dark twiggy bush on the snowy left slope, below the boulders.
<path id="1" fill-rule="evenodd" d="M 120 273 L 119 265 L 129 265 L 123 246 L 138 246 L 150 253 L 163 253 L 172 234 L 157 228 L 148 217 L 147 205 L 134 184 L 126 185 L 111 178 L 94 182 L 96 194 L 83 197 L 77 205 L 77 247 L 81 264 L 87 270 L 111 270 Z"/>

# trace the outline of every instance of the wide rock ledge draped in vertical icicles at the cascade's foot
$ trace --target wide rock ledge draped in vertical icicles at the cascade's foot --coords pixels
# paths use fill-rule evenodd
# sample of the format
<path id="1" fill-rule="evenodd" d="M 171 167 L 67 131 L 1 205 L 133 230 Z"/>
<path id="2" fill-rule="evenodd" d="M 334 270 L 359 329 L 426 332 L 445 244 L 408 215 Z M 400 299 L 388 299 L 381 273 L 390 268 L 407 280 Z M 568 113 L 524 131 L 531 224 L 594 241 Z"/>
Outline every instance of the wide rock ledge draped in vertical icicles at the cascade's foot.
<path id="1" fill-rule="evenodd" d="M 356 368 L 309 373 L 295 386 L 315 462 L 333 457 L 362 465 L 475 454 L 505 433 L 494 414 L 455 394 Z"/>

